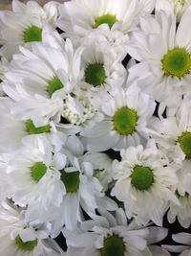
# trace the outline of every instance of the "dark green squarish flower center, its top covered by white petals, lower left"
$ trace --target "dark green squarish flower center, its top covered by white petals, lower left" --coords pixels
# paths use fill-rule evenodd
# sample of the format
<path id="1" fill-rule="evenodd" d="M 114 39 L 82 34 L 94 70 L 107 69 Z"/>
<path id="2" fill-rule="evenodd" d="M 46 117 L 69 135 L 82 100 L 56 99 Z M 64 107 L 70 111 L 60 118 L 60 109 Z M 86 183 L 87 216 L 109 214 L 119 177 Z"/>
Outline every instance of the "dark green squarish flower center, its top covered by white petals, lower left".
<path id="1" fill-rule="evenodd" d="M 65 185 L 67 193 L 76 193 L 79 189 L 79 172 L 66 173 L 65 171 L 61 172 L 61 180 Z"/>

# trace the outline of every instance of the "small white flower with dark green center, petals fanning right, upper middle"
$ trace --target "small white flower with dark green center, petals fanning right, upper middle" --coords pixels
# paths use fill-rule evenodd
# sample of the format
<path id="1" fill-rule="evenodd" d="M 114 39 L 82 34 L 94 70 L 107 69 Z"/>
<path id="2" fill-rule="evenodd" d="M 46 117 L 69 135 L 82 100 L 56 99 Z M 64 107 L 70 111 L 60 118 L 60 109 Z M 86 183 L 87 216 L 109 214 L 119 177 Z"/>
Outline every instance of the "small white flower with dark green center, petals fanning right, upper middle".
<path id="1" fill-rule="evenodd" d="M 82 88 L 95 92 L 96 97 L 97 93 L 102 97 L 103 91 L 115 92 L 126 81 L 126 69 L 121 60 L 113 47 L 105 48 L 92 39 L 82 55 Z"/>

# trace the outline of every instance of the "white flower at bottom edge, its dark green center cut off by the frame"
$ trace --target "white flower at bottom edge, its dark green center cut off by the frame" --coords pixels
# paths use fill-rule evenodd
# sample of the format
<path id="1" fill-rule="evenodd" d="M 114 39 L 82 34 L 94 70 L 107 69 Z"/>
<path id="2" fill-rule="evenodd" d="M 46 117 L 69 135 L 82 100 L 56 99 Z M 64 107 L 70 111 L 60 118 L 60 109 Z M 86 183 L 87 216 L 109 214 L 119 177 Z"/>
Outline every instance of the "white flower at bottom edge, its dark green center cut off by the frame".
<path id="1" fill-rule="evenodd" d="M 151 253 L 157 250 L 161 253 L 158 246 L 154 248 L 150 244 L 166 237 L 166 229 L 145 228 L 135 221 L 128 222 L 121 208 L 113 214 L 99 208 L 98 213 L 100 216 L 91 215 L 93 220 L 84 221 L 73 232 L 63 229 L 69 246 L 68 256 L 152 256 L 158 255 Z"/>

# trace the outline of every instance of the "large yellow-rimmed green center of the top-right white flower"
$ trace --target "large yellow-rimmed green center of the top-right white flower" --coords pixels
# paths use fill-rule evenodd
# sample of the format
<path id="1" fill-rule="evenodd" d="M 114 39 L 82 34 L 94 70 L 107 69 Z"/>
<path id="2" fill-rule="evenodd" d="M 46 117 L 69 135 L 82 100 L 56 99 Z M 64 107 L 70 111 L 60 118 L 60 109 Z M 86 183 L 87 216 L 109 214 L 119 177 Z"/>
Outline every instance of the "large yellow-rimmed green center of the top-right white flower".
<path id="1" fill-rule="evenodd" d="M 184 48 L 176 47 L 161 59 L 161 65 L 164 76 L 183 78 L 190 73 L 191 55 Z"/>

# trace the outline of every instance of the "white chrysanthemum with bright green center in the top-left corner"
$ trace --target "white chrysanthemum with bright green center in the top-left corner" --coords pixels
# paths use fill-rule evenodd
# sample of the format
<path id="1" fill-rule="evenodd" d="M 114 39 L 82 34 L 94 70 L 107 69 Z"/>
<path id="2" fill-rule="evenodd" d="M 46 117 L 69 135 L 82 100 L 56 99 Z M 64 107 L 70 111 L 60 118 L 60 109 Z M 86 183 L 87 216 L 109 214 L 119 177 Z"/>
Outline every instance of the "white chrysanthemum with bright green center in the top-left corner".
<path id="1" fill-rule="evenodd" d="M 20 45 L 41 41 L 43 27 L 47 24 L 55 26 L 57 19 L 57 3 L 53 1 L 41 7 L 34 1 L 25 5 L 13 0 L 12 10 L 0 12 L 0 40 L 3 44 L 0 55 L 8 59 L 18 52 Z"/>

